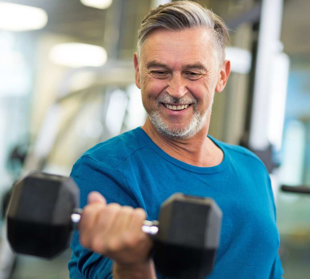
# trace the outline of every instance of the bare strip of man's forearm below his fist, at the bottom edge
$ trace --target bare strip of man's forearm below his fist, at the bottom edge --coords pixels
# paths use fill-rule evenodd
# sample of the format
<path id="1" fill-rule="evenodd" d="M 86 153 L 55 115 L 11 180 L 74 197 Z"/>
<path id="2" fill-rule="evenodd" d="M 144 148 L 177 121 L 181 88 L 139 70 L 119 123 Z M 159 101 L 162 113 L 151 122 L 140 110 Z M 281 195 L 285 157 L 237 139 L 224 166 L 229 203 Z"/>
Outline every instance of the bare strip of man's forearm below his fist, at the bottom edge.
<path id="1" fill-rule="evenodd" d="M 136 266 L 113 262 L 113 279 L 157 279 L 153 259 Z"/>

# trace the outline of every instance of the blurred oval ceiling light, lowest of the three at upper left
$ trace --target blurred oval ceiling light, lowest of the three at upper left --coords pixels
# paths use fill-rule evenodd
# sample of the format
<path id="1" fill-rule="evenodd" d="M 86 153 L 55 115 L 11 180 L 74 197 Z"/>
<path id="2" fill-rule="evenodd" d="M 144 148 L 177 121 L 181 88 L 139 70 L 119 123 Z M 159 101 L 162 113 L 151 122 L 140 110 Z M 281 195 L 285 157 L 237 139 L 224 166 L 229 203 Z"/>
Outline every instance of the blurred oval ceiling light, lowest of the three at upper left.
<path id="1" fill-rule="evenodd" d="M 55 64 L 80 68 L 85 66 L 100 67 L 105 64 L 108 55 L 105 49 L 100 46 L 62 43 L 51 48 L 49 57 Z"/>

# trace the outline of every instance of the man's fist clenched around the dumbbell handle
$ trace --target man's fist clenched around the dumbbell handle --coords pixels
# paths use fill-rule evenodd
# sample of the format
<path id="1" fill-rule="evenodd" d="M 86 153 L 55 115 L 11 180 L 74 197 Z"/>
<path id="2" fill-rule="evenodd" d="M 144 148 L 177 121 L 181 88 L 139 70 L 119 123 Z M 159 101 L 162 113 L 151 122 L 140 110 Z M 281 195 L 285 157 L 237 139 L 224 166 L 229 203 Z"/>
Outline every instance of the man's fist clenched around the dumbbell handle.
<path id="1" fill-rule="evenodd" d="M 142 208 L 107 204 L 98 192 L 88 195 L 79 224 L 80 243 L 122 266 L 149 261 L 152 241 L 142 231 L 146 213 Z"/>

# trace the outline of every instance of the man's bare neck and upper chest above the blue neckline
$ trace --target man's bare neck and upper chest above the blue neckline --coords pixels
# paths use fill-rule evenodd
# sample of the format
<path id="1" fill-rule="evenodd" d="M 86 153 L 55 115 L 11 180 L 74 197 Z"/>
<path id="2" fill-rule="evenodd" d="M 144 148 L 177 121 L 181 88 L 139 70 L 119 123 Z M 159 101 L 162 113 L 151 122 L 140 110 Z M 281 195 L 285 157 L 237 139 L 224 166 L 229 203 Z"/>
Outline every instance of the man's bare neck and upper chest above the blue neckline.
<path id="1" fill-rule="evenodd" d="M 175 159 L 199 167 L 217 166 L 223 161 L 224 154 L 207 137 L 210 120 L 190 139 L 171 139 L 160 134 L 147 118 L 142 129 L 164 152 Z"/>

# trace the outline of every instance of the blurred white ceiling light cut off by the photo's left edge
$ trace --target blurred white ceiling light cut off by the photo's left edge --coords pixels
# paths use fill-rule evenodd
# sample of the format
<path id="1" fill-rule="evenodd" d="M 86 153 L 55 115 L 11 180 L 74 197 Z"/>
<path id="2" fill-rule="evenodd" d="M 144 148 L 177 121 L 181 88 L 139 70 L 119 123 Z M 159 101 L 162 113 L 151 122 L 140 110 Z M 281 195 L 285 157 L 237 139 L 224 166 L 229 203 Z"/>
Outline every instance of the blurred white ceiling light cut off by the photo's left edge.
<path id="1" fill-rule="evenodd" d="M 47 12 L 8 2 L 0 2 L 0 30 L 29 31 L 42 29 L 47 24 Z"/>

